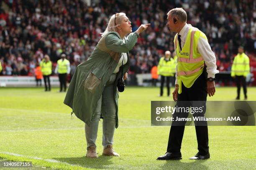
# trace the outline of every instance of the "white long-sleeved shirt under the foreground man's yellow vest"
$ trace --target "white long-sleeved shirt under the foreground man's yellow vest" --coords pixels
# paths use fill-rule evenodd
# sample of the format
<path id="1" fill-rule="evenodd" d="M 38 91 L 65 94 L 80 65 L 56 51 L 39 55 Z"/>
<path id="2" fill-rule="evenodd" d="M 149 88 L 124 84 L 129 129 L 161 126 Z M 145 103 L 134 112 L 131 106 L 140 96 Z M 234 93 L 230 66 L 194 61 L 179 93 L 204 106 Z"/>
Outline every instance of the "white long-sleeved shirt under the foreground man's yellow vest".
<path id="1" fill-rule="evenodd" d="M 189 30 L 189 25 L 186 23 L 186 25 L 184 25 L 182 30 L 179 32 L 179 35 L 181 35 L 180 39 L 181 39 L 182 48 L 184 47 L 184 44 L 186 42 L 188 30 Z M 179 42 L 177 45 L 179 45 Z M 215 74 L 219 72 L 217 70 L 216 57 L 215 57 L 214 52 L 212 52 L 209 42 L 201 36 L 199 37 L 199 40 L 197 42 L 197 50 L 202 55 L 203 59 L 205 60 L 205 64 L 207 66 L 206 71 L 208 73 L 207 77 L 215 78 Z M 175 49 L 175 52 L 176 52 L 176 49 Z M 176 52 L 176 54 L 177 54 L 177 52 Z M 178 65 L 176 66 L 175 85 L 178 84 L 177 71 L 178 71 Z"/>

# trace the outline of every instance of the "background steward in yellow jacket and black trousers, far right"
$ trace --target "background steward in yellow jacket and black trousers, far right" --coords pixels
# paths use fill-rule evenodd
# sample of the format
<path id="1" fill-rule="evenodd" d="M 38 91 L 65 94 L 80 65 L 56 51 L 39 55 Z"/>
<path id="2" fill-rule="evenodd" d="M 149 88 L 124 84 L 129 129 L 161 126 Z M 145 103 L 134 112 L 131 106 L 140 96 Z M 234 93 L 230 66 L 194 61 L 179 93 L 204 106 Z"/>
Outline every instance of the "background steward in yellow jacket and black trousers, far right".
<path id="1" fill-rule="evenodd" d="M 240 100 L 241 82 L 243 85 L 244 100 L 247 100 L 246 77 L 250 73 L 249 57 L 243 52 L 243 47 L 238 47 L 238 54 L 231 67 L 231 77 L 235 77 L 237 86 L 236 100 Z"/>

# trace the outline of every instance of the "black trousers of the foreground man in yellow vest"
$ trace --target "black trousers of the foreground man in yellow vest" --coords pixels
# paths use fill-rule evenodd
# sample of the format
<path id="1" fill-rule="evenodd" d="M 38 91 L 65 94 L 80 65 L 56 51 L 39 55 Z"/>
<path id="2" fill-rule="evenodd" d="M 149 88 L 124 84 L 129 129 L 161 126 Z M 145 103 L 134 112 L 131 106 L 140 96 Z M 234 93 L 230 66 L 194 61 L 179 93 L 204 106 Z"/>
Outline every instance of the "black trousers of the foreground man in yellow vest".
<path id="1" fill-rule="evenodd" d="M 190 106 L 197 107 L 195 106 L 197 105 L 197 102 L 193 102 L 193 101 L 205 101 L 204 102 L 204 105 L 205 105 L 206 99 L 207 99 L 207 73 L 206 73 L 206 69 L 204 68 L 204 71 L 197 78 L 197 80 L 194 82 L 192 87 L 187 88 L 182 83 L 182 93 L 178 94 L 177 106 L 178 107 L 190 107 Z M 198 115 L 198 116 L 204 116 L 206 107 L 204 108 L 205 109 L 203 110 L 201 115 Z M 174 117 L 174 120 L 176 120 L 176 116 L 187 117 L 188 114 L 190 113 L 174 112 L 173 117 Z M 181 145 L 182 145 L 182 138 L 183 138 L 184 129 L 185 129 L 185 123 L 186 121 L 179 122 L 179 125 L 177 125 L 177 122 L 175 121 L 172 122 L 171 130 L 169 134 L 167 152 L 170 152 L 170 153 L 180 152 Z M 203 125 L 198 126 L 197 122 L 195 122 L 195 130 L 197 134 L 197 149 L 199 150 L 200 154 L 206 155 L 207 153 L 209 153 L 208 128 L 207 128 L 207 122 L 203 122 L 203 123 L 204 123 Z"/>

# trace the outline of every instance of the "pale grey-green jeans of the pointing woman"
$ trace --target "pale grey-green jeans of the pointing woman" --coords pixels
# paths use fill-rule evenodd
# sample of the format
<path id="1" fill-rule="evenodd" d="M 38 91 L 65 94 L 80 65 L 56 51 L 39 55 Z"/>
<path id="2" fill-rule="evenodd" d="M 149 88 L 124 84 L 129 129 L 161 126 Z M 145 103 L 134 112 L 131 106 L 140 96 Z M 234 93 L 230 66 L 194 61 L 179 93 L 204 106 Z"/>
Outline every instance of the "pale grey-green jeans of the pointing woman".
<path id="1" fill-rule="evenodd" d="M 100 113 L 103 117 L 102 123 L 102 145 L 107 148 L 108 145 L 113 145 L 115 131 L 115 97 L 114 97 L 114 82 L 116 74 L 112 74 L 108 80 L 100 100 L 97 102 L 95 115 L 90 123 L 90 126 L 85 124 L 85 137 L 87 149 L 90 146 L 96 146 L 98 126 L 100 121 Z"/>

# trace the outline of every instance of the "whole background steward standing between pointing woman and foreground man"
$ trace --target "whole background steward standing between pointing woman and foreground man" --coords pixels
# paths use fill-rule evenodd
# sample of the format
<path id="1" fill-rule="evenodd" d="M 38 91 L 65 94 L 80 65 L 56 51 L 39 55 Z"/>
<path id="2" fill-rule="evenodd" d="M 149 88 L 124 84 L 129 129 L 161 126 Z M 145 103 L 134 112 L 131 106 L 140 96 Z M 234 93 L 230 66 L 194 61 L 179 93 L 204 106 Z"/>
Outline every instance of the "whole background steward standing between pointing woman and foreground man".
<path id="1" fill-rule="evenodd" d="M 157 74 L 161 75 L 161 86 L 160 86 L 160 97 L 163 96 L 164 89 L 164 81 L 166 79 L 166 87 L 167 87 L 167 96 L 170 96 L 170 79 L 171 76 L 174 75 L 172 72 L 172 57 L 171 52 L 166 51 L 164 53 L 164 57 L 161 57 L 158 66 L 157 66 Z"/>

